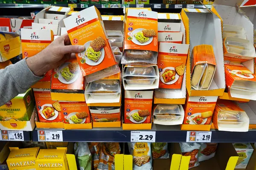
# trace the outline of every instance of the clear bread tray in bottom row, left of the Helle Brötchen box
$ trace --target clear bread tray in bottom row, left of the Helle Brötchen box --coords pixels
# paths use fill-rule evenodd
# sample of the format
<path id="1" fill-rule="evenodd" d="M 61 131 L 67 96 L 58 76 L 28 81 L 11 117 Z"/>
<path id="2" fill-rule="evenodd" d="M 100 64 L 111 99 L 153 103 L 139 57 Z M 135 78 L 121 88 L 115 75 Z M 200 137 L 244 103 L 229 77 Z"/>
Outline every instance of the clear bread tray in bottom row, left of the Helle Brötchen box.
<path id="1" fill-rule="evenodd" d="M 178 105 L 157 105 L 154 116 L 159 121 L 171 121 L 179 119 L 182 115 Z"/>

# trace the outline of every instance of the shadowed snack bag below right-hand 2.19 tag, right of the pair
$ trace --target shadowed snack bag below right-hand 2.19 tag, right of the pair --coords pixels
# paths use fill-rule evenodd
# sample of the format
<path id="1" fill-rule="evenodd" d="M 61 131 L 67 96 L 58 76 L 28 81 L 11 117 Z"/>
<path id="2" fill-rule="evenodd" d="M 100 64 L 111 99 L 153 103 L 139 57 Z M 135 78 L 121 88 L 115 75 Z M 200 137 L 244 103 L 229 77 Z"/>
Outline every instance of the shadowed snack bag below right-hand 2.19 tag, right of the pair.
<path id="1" fill-rule="evenodd" d="M 205 161 L 215 156 L 217 143 L 201 143 L 198 153 L 198 161 Z"/>

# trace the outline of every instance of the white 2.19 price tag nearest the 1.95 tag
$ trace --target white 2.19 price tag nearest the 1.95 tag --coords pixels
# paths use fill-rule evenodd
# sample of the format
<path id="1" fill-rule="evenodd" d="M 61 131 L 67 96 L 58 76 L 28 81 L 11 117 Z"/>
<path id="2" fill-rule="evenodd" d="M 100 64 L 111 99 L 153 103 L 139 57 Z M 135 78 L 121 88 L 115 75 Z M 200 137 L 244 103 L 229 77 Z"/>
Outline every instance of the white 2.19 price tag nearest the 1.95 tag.
<path id="1" fill-rule="evenodd" d="M 62 130 L 38 130 L 38 141 L 63 142 Z"/>

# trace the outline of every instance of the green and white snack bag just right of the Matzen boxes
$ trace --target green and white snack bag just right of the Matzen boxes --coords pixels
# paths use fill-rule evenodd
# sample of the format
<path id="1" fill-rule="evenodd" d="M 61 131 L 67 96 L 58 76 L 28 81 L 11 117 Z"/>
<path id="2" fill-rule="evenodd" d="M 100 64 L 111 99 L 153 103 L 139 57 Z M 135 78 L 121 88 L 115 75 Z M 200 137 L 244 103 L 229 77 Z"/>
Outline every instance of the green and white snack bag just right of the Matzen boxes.
<path id="1" fill-rule="evenodd" d="M 76 142 L 74 144 L 74 151 L 80 170 L 90 170 L 92 164 L 92 155 L 87 142 Z"/>

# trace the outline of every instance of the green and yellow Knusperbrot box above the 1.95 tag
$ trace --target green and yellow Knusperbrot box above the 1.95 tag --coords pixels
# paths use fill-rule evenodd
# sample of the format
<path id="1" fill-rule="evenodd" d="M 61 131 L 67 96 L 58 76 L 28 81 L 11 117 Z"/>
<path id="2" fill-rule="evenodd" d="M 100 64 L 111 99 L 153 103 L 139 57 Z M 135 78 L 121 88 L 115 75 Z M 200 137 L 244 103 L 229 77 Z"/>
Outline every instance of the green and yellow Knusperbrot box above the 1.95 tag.
<path id="1" fill-rule="evenodd" d="M 0 106 L 0 120 L 29 121 L 35 108 L 35 100 L 29 89 L 23 94 L 18 94 L 11 101 Z"/>

